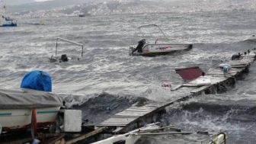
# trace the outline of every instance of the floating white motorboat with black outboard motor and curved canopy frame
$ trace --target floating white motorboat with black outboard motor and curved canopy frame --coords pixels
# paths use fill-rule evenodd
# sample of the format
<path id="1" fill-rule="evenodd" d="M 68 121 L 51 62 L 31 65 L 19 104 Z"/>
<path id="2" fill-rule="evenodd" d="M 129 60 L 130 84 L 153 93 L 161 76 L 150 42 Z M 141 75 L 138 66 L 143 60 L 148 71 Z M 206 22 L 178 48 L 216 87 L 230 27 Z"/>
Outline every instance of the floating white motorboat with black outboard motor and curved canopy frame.
<path id="1" fill-rule="evenodd" d="M 157 27 L 158 30 L 164 35 L 168 43 L 158 43 L 158 39 L 155 43 L 146 43 L 146 40 L 140 40 L 138 46 L 130 46 L 130 56 L 156 56 L 173 53 L 179 50 L 190 50 L 193 47 L 192 43 L 171 43 L 165 33 L 156 24 L 143 25 L 139 27 Z M 143 42 L 145 41 L 145 42 Z"/>

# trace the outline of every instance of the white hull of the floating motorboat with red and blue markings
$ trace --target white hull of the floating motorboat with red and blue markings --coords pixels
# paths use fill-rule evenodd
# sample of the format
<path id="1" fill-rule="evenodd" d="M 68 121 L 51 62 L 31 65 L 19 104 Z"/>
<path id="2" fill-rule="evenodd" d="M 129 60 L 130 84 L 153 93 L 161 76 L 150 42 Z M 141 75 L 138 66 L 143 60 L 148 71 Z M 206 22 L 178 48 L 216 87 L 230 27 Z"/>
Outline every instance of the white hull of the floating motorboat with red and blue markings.
<path id="1" fill-rule="evenodd" d="M 142 53 L 130 53 L 132 56 L 157 56 L 166 55 L 180 50 L 190 50 L 193 44 L 169 44 L 169 43 L 159 43 L 159 44 L 146 44 L 142 48 Z M 132 51 L 132 50 L 130 50 Z"/>

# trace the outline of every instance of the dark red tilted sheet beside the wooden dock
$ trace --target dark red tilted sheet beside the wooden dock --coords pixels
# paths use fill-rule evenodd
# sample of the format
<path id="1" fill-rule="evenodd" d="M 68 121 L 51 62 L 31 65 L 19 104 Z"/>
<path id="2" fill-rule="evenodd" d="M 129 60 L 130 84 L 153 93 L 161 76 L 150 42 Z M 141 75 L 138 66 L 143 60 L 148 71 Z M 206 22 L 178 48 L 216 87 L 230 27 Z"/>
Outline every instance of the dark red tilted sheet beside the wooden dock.
<path id="1" fill-rule="evenodd" d="M 181 75 L 181 78 L 183 78 L 185 81 L 194 80 L 203 74 L 202 69 L 200 69 L 198 66 L 184 69 L 175 69 L 175 71 Z"/>

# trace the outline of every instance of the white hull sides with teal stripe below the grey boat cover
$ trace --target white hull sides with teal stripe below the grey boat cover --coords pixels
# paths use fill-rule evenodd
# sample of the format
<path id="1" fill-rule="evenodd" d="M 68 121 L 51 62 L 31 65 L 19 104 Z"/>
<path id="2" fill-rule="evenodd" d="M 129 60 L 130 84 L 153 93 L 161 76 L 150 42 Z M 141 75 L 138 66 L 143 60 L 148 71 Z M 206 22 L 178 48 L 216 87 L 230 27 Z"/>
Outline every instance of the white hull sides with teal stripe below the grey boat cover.
<path id="1" fill-rule="evenodd" d="M 37 127 L 49 126 L 55 122 L 60 107 L 37 108 Z M 30 128 L 31 109 L 0 110 L 2 131 Z"/>

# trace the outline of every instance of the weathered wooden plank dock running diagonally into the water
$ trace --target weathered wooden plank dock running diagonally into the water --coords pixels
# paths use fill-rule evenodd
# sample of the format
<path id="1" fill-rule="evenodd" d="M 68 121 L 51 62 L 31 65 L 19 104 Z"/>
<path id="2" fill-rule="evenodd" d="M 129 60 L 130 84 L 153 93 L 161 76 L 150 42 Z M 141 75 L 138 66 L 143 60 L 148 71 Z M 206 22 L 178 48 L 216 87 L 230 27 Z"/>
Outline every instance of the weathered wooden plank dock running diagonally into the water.
<path id="1" fill-rule="evenodd" d="M 126 110 L 120 111 L 109 119 L 104 120 L 102 123 L 98 124 L 98 127 L 117 127 L 117 130 L 114 130 L 114 132 L 118 133 L 125 130 L 132 124 L 139 123 L 140 120 L 143 120 L 146 117 L 152 117 L 153 114 L 165 109 L 165 107 L 168 107 L 171 104 L 174 104 L 174 102 L 187 100 L 188 98 L 199 95 L 206 90 L 210 92 L 213 92 L 213 90 L 218 92 L 219 85 L 235 84 L 235 80 L 237 78 L 249 71 L 251 62 L 254 62 L 254 58 L 245 57 L 240 60 L 226 62 L 226 64 L 232 66 L 232 69 L 230 69 L 228 72 L 223 72 L 223 70 L 220 68 L 210 69 L 208 72 L 206 72 L 206 75 L 199 77 L 209 78 L 211 85 L 197 85 L 197 79 L 199 78 L 195 79 L 194 81 L 184 83 L 183 85 L 178 85 L 178 87 L 172 89 L 172 91 L 187 91 L 187 93 L 185 93 L 183 96 L 176 97 L 172 101 L 152 102 L 142 107 L 129 107 Z"/>

